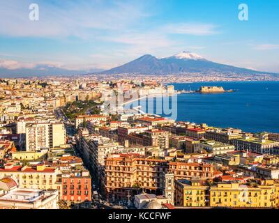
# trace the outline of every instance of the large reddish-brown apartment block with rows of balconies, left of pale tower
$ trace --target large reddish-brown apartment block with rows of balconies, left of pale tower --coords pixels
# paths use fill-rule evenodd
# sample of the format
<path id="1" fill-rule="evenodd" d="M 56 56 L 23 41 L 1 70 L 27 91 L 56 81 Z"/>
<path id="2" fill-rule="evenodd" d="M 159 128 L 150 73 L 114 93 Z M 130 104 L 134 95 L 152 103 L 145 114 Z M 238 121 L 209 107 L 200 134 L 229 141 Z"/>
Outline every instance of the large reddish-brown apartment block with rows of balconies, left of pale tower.
<path id="1" fill-rule="evenodd" d="M 145 159 L 139 155 L 111 155 L 105 160 L 102 188 L 109 199 L 127 199 L 140 187 L 156 193 L 163 188 L 163 174 L 167 172 L 167 160 Z"/>

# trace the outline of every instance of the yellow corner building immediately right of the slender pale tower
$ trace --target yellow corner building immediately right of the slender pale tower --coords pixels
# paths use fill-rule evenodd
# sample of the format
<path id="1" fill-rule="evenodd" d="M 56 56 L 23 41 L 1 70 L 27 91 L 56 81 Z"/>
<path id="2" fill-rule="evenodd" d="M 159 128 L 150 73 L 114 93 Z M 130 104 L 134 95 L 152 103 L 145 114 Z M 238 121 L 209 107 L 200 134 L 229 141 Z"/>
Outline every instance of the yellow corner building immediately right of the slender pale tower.
<path id="1" fill-rule="evenodd" d="M 176 180 L 175 205 L 183 207 L 204 207 L 209 204 L 209 185 L 204 180 Z"/>

